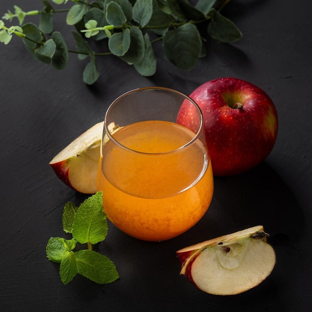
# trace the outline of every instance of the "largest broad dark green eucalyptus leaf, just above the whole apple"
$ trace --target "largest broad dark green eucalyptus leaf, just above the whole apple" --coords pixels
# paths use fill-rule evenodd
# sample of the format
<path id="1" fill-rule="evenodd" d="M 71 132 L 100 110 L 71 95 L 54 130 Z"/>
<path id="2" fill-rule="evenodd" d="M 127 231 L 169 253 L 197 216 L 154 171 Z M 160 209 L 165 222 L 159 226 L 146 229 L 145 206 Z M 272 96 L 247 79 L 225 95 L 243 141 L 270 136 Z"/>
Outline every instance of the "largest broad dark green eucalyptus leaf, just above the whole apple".
<path id="1" fill-rule="evenodd" d="M 201 39 L 195 25 L 187 23 L 164 34 L 163 49 L 171 63 L 182 70 L 190 70 L 201 51 Z"/>

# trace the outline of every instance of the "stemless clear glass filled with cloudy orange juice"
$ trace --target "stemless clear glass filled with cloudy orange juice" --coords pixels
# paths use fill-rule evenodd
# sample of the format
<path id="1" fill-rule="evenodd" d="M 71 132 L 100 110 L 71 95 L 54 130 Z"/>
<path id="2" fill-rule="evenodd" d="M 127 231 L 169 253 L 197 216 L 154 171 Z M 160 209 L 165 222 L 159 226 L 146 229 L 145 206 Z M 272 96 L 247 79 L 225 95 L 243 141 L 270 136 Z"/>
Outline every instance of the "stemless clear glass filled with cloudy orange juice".
<path id="1" fill-rule="evenodd" d="M 192 130 L 177 123 L 182 103 Z M 196 224 L 213 194 L 197 104 L 161 87 L 117 98 L 105 115 L 97 190 L 108 219 L 138 239 L 167 240 Z"/>

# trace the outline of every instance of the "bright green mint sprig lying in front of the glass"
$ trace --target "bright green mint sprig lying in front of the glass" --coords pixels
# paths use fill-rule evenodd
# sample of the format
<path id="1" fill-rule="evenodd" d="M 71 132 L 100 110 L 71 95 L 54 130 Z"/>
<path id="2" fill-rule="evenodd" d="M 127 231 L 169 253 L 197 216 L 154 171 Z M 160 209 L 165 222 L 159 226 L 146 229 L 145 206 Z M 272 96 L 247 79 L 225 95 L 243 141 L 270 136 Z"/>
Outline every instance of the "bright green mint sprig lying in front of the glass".
<path id="1" fill-rule="evenodd" d="M 60 263 L 60 277 L 64 284 L 80 274 L 98 284 L 108 284 L 119 278 L 114 263 L 93 251 L 92 245 L 105 240 L 108 225 L 103 210 L 102 192 L 87 198 L 79 207 L 68 202 L 63 210 L 63 230 L 72 239 L 51 237 L 46 246 L 47 258 Z M 88 249 L 74 251 L 76 244 L 87 244 Z"/>

